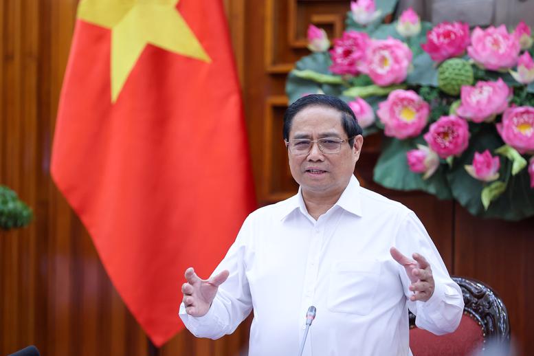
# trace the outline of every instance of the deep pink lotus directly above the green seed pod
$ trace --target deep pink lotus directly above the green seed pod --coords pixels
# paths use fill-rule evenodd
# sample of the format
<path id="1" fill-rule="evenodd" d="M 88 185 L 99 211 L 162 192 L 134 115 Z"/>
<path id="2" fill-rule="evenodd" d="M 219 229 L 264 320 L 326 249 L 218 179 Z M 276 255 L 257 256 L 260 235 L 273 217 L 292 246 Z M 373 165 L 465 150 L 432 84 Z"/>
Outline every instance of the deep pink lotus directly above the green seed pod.
<path id="1" fill-rule="evenodd" d="M 469 25 L 461 22 L 443 22 L 427 32 L 427 43 L 421 45 L 432 60 L 442 62 L 460 56 L 469 45 Z"/>

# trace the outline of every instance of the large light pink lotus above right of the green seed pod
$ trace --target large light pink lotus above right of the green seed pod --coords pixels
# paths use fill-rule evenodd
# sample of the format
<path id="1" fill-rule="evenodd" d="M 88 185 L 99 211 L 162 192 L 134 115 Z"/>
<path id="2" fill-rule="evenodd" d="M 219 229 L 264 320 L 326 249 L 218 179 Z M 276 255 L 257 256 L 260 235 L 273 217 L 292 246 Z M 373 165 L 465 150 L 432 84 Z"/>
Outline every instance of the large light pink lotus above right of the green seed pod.
<path id="1" fill-rule="evenodd" d="M 486 69 L 508 69 L 518 62 L 519 40 L 509 34 L 504 25 L 489 26 L 486 30 L 476 27 L 471 34 L 467 54 Z"/>

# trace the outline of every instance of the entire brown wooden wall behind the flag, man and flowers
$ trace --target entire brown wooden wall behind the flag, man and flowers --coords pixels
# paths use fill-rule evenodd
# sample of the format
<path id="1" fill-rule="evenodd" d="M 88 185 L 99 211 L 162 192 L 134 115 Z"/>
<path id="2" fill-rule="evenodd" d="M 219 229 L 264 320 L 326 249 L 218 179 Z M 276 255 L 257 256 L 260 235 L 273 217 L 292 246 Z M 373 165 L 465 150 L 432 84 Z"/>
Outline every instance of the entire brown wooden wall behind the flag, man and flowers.
<path id="1" fill-rule="evenodd" d="M 180 0 L 192 1 L 192 0 Z M 0 2 L 0 183 L 34 209 L 30 227 L 0 232 L 0 355 L 36 344 L 42 355 L 246 355 L 251 319 L 221 340 L 184 331 L 153 348 L 111 285 L 89 235 L 49 177 L 61 82 L 78 0 Z M 224 0 L 243 90 L 260 205 L 297 190 L 282 143 L 285 78 L 306 55 L 307 25 L 339 36 L 350 0 Z M 412 208 L 454 274 L 496 288 L 521 355 L 534 354 L 534 221 L 476 219 L 451 201 L 372 182 L 381 149 L 366 137 L 362 186 Z M 177 281 L 177 293 L 179 285 Z"/>

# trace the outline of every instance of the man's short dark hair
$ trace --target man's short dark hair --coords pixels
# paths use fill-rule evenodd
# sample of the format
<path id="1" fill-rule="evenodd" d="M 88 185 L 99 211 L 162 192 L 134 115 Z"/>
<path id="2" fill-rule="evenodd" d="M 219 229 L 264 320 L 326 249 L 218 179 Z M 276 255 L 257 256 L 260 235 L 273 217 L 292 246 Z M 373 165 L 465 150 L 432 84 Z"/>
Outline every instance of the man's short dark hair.
<path id="1" fill-rule="evenodd" d="M 289 140 L 289 131 L 291 131 L 291 124 L 295 115 L 307 107 L 327 107 L 335 109 L 341 114 L 341 126 L 343 126 L 347 137 L 355 137 L 362 133 L 354 112 L 346 102 L 335 96 L 309 94 L 298 99 L 296 102 L 293 102 L 293 104 L 289 105 L 285 111 L 283 128 L 284 140 Z M 353 146 L 354 140 L 349 140 L 348 144 Z"/>

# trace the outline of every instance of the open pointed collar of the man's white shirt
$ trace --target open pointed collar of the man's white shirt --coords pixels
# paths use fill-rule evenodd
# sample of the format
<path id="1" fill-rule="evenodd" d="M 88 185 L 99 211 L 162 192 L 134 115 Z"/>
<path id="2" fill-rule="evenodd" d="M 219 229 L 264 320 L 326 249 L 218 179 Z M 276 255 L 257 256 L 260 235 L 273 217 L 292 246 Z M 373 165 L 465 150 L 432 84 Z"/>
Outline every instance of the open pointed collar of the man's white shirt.
<path id="1" fill-rule="evenodd" d="M 361 198 L 359 195 L 359 181 L 356 177 L 351 176 L 351 179 L 348 181 L 348 184 L 345 190 L 342 192 L 340 199 L 334 204 L 334 206 L 339 206 L 340 208 L 355 214 L 357 216 L 362 216 L 361 213 Z M 298 193 L 293 195 L 293 197 L 287 199 L 284 202 L 284 205 L 280 207 L 280 220 L 285 219 L 291 212 L 295 210 L 300 210 L 302 214 L 307 214 L 306 204 L 304 204 L 304 199 L 302 198 L 302 188 L 298 188 Z"/>

